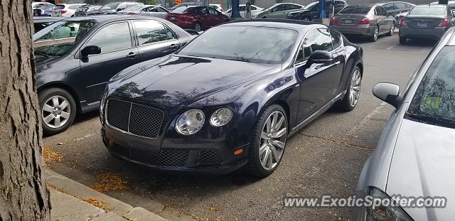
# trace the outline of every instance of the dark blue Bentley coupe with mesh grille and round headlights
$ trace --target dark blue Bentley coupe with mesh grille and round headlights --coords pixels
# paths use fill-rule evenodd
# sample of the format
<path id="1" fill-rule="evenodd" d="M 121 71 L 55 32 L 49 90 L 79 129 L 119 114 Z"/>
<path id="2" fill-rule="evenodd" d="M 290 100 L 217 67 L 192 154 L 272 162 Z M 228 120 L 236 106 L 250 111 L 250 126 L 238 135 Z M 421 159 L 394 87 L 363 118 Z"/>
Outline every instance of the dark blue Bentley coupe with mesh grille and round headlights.
<path id="1" fill-rule="evenodd" d="M 134 65 L 102 97 L 102 139 L 119 158 L 173 171 L 265 177 L 287 139 L 360 95 L 363 50 L 304 21 L 210 28 L 181 50 Z"/>

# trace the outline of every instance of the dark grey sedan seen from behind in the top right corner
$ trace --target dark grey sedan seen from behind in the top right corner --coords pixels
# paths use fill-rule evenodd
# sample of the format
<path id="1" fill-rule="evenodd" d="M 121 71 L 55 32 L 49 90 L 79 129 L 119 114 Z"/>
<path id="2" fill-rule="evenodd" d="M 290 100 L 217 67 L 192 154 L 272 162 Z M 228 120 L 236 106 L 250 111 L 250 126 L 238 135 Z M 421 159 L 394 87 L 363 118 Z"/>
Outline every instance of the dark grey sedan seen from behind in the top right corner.
<path id="1" fill-rule="evenodd" d="M 408 38 L 439 39 L 447 28 L 454 26 L 454 23 L 449 6 L 440 4 L 415 6 L 400 21 L 400 43 L 406 43 Z"/>

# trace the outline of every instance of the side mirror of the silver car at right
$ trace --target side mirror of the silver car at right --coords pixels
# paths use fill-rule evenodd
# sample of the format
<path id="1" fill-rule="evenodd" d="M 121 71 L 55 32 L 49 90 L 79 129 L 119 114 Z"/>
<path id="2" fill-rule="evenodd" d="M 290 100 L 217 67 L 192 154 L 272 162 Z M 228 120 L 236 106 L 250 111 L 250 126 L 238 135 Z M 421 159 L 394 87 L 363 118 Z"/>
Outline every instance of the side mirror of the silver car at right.
<path id="1" fill-rule="evenodd" d="M 373 87 L 373 95 L 397 109 L 402 102 L 402 97 L 400 97 L 400 86 L 392 83 L 380 82 L 376 84 L 375 87 Z"/>

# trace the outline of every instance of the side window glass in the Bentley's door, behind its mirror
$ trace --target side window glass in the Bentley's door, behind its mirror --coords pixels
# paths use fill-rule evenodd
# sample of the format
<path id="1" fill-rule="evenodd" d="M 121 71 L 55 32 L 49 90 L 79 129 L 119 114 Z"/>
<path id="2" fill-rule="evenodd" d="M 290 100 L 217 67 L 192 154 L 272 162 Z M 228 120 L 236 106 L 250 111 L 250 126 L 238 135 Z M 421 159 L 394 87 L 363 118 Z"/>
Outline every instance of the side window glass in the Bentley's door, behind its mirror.
<path id="1" fill-rule="evenodd" d="M 316 50 L 332 50 L 332 38 L 330 32 L 326 28 L 318 28 L 306 34 L 304 39 L 304 48 L 311 48 L 311 51 Z M 305 49 L 304 49 L 305 50 Z M 306 51 L 306 50 L 305 50 Z M 305 58 L 309 55 L 305 54 Z"/>

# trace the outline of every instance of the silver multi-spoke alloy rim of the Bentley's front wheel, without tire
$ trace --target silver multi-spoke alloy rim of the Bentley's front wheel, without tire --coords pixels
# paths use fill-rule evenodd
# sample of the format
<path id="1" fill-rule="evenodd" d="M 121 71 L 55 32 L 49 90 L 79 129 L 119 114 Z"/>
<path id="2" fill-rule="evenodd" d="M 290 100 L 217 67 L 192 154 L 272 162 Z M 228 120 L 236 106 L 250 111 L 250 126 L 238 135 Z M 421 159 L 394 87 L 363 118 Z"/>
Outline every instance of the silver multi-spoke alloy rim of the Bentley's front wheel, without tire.
<path id="1" fill-rule="evenodd" d="M 286 146 L 287 122 L 280 111 L 272 112 L 262 128 L 259 140 L 259 161 L 266 171 L 274 169 L 281 160 Z"/>

